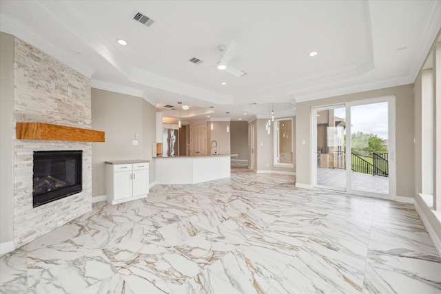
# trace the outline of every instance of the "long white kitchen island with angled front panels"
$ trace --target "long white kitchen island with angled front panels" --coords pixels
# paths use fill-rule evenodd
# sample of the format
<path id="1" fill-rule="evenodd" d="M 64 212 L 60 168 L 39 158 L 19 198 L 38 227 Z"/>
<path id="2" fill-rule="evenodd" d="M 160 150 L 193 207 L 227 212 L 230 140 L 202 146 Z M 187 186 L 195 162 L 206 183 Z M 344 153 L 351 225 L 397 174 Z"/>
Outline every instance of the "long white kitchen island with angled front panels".
<path id="1" fill-rule="evenodd" d="M 231 176 L 232 154 L 156 157 L 156 184 L 196 184 Z"/>

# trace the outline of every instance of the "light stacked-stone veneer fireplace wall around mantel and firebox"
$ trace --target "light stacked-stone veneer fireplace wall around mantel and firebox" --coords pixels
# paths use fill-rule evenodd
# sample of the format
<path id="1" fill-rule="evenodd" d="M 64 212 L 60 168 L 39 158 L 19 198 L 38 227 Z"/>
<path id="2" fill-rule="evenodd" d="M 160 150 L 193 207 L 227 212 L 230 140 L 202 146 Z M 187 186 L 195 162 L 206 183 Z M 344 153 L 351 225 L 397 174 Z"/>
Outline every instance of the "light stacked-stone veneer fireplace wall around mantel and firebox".
<path id="1" fill-rule="evenodd" d="M 17 38 L 14 42 L 14 122 L 90 129 L 90 78 Z M 50 81 L 56 87 L 50 89 Z M 72 96 L 68 96 L 68 87 Z M 32 207 L 33 151 L 83 150 L 83 191 Z M 92 143 L 14 140 L 14 246 L 60 227 L 92 209 Z"/>

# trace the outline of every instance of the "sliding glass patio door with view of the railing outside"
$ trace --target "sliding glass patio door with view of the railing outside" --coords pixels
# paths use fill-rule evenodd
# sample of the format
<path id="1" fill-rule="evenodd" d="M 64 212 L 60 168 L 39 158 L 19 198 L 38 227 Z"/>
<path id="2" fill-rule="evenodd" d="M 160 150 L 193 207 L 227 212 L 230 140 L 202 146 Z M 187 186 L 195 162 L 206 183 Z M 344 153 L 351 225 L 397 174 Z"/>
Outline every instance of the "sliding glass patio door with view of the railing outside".
<path id="1" fill-rule="evenodd" d="M 394 195 L 393 101 L 382 97 L 312 109 L 314 187 Z"/>

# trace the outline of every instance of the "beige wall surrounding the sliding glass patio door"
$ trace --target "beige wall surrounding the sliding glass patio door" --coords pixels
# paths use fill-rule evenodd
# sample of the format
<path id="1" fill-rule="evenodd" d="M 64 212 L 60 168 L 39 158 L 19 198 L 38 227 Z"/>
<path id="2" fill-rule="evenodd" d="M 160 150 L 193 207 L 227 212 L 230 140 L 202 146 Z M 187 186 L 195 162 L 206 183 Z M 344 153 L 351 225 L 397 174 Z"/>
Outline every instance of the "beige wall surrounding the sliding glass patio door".
<path id="1" fill-rule="evenodd" d="M 413 197 L 413 85 L 389 87 L 296 104 L 297 182 L 311 185 L 311 107 L 333 105 L 383 96 L 396 96 L 396 170 L 397 196 Z M 305 145 L 302 145 L 305 140 Z"/>

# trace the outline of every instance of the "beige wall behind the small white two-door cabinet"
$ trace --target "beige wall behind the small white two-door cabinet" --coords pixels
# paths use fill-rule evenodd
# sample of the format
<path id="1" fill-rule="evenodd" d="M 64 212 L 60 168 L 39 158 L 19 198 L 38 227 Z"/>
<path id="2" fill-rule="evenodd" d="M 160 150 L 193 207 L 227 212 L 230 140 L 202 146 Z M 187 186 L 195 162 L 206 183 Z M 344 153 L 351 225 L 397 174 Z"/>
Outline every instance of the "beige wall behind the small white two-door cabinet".
<path id="1" fill-rule="evenodd" d="M 150 160 L 154 176 L 152 143 L 156 140 L 156 108 L 143 98 L 92 88 L 92 129 L 105 132 L 105 143 L 92 143 L 92 196 L 105 195 L 105 161 Z M 138 145 L 132 145 L 139 134 Z"/>

